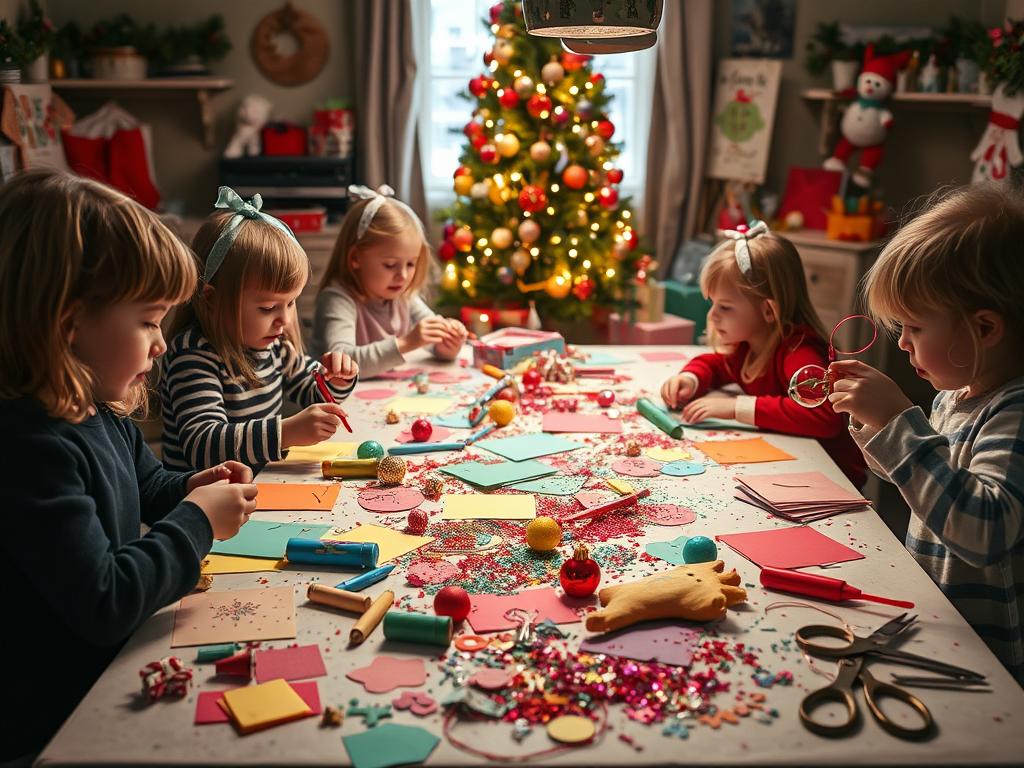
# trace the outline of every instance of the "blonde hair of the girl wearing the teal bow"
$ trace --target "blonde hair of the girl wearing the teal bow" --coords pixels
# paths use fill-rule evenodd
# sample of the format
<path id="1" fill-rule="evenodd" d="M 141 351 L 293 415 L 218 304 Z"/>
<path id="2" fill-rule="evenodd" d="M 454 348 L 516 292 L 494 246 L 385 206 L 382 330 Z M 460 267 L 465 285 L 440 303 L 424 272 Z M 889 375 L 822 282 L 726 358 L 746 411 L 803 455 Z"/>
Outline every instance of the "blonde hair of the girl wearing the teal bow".
<path id="1" fill-rule="evenodd" d="M 231 211 L 211 214 L 193 238 L 200 273 Z M 209 284 L 201 282 L 191 303 L 174 317 L 172 336 L 198 325 L 217 350 L 228 375 L 253 386 L 259 378 L 242 339 L 242 297 L 247 291 L 291 293 L 309 281 L 309 258 L 287 232 L 264 221 L 243 219 L 239 233 Z M 206 286 L 213 287 L 211 300 Z M 302 354 L 302 333 L 297 316 L 285 329 L 296 354 Z"/>

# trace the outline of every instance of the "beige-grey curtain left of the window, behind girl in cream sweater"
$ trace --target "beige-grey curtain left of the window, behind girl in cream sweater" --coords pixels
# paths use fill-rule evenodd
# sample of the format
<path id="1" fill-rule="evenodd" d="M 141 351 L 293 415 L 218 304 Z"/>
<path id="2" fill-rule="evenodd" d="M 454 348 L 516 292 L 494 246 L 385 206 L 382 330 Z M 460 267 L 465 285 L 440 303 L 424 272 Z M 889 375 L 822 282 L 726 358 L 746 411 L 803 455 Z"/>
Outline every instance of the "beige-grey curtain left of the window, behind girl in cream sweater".
<path id="1" fill-rule="evenodd" d="M 416 35 L 412 3 L 352 3 L 356 111 L 356 175 L 376 188 L 389 184 L 426 222 L 417 138 Z"/>

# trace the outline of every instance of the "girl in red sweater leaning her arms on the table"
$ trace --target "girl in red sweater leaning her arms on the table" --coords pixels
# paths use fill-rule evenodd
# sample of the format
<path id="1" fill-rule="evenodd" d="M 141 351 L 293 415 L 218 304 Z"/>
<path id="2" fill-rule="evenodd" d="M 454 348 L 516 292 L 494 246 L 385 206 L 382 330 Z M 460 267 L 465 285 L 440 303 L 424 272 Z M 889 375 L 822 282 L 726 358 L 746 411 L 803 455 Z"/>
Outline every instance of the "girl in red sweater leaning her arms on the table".
<path id="1" fill-rule="evenodd" d="M 683 419 L 736 419 L 785 434 L 816 437 L 855 485 L 864 461 L 843 418 L 827 403 L 806 409 L 788 396 L 790 380 L 804 366 L 827 364 L 825 332 L 811 306 L 797 249 L 757 222 L 729 232 L 700 272 L 700 292 L 712 301 L 708 333 L 714 352 L 692 358 L 662 386 L 662 398 Z M 743 394 L 708 393 L 738 384 Z"/>

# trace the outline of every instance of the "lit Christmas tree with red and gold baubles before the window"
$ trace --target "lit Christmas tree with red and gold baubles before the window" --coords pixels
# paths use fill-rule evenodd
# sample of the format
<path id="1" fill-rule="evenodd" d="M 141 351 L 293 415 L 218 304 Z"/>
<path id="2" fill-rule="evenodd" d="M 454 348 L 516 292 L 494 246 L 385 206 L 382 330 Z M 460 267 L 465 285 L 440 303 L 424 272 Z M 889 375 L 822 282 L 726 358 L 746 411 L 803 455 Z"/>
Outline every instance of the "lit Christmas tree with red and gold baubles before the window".
<path id="1" fill-rule="evenodd" d="M 564 321 L 622 309 L 651 267 L 628 199 L 620 200 L 610 95 L 591 57 L 527 35 L 519 0 L 492 6 L 487 71 L 455 171 L 456 202 L 438 247 L 440 303 L 525 307 Z"/>

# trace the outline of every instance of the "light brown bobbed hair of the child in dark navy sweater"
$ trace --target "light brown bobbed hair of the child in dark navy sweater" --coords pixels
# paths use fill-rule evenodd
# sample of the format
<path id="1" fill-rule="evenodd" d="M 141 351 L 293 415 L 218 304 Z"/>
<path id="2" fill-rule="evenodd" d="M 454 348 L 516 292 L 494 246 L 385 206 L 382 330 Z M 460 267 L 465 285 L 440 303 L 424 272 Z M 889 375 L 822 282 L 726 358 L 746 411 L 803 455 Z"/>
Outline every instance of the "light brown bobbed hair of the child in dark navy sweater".
<path id="1" fill-rule="evenodd" d="M 52 170 L 0 187 L 0 397 L 35 397 L 51 417 L 81 422 L 95 380 L 72 349 L 71 313 L 182 302 L 199 276 L 193 256 L 138 203 Z M 139 384 L 106 404 L 129 416 L 147 400 Z"/>

